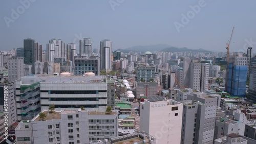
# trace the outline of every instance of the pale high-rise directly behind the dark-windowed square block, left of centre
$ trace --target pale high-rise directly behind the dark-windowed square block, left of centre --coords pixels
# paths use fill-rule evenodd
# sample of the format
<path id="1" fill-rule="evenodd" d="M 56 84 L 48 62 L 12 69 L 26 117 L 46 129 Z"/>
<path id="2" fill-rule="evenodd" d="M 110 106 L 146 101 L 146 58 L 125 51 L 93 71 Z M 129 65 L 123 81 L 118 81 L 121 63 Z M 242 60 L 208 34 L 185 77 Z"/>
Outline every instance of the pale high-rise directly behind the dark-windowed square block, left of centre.
<path id="1" fill-rule="evenodd" d="M 92 40 L 91 38 L 84 38 L 79 40 L 79 56 L 88 55 L 92 56 Z"/>

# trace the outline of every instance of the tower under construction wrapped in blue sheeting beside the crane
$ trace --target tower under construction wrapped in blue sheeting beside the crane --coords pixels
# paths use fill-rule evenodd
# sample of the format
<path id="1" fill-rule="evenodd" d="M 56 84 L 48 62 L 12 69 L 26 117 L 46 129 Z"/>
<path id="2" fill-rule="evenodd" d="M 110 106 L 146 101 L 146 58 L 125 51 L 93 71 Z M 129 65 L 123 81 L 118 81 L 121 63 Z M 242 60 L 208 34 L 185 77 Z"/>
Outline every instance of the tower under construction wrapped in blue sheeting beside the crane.
<path id="1" fill-rule="evenodd" d="M 234 53 L 229 58 L 227 92 L 235 97 L 245 97 L 247 80 L 247 57 L 245 53 Z"/>

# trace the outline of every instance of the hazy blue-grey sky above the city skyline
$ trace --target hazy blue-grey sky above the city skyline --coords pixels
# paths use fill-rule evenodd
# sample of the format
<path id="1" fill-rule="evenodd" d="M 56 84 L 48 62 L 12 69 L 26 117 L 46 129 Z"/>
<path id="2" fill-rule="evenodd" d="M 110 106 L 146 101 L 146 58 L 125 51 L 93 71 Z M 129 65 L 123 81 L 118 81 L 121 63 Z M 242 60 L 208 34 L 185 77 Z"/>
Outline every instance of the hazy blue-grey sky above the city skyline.
<path id="1" fill-rule="evenodd" d="M 100 40 L 110 39 L 113 50 L 161 43 L 216 52 L 225 51 L 233 26 L 230 51 L 248 47 L 250 39 L 256 47 L 255 0 L 22 1 L 35 2 L 24 8 L 20 1 L 1 1 L 0 50 L 23 47 L 27 38 L 39 41 L 44 49 L 51 38 L 78 47 L 78 39 L 90 37 L 93 49 L 99 48 Z M 200 10 L 192 12 L 190 6 Z M 182 22 L 182 14 L 191 19 Z M 179 32 L 175 21 L 182 25 Z"/>

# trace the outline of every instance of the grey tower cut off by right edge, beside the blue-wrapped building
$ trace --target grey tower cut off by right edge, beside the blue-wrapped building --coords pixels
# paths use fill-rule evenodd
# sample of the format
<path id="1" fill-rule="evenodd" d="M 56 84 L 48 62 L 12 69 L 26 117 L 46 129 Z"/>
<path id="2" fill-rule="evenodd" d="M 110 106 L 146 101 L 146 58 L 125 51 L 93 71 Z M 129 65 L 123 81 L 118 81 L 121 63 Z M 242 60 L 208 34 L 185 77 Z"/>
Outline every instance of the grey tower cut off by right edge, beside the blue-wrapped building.
<path id="1" fill-rule="evenodd" d="M 249 89 L 248 89 L 248 99 L 256 103 L 256 65 L 250 68 L 250 78 L 249 78 Z"/>

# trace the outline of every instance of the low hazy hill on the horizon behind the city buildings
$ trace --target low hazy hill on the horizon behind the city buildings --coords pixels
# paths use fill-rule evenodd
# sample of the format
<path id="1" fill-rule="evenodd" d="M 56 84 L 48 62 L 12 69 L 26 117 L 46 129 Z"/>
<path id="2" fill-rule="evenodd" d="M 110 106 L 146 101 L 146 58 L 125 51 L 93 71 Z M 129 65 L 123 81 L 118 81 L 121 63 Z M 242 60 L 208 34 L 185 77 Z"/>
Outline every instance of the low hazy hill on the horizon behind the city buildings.
<path id="1" fill-rule="evenodd" d="M 167 48 L 166 48 L 167 47 Z M 203 49 L 187 49 L 187 47 L 174 47 L 170 46 L 168 44 L 154 44 L 154 45 L 137 45 L 133 47 L 129 47 L 127 49 L 117 49 L 116 51 L 120 51 L 123 53 L 129 53 L 131 51 L 133 52 L 203 52 L 203 53 L 209 53 L 210 51 L 203 50 Z"/>

